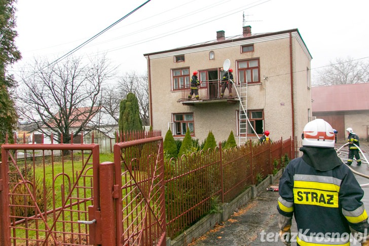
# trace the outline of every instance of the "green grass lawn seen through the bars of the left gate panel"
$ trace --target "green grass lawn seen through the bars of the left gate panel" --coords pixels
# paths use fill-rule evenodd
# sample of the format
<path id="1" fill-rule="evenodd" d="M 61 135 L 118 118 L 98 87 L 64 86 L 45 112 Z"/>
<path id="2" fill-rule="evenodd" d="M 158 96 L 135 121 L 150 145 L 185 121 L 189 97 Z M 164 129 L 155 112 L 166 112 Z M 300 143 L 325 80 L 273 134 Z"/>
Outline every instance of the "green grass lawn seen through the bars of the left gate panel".
<path id="1" fill-rule="evenodd" d="M 81 153 L 73 154 L 73 161 L 71 157 L 55 157 L 52 163 L 51 159 L 45 160 L 36 159 L 34 162 L 34 173 L 36 178 L 41 180 L 45 179 L 45 183 L 49 184 L 47 190 L 52 189 L 47 200 L 55 199 L 55 208 L 61 207 L 63 203 L 70 205 L 71 203 L 78 203 L 70 206 L 62 213 L 56 211 L 55 213 L 47 215 L 48 226 L 51 227 L 54 220 L 57 219 L 57 223 L 54 226 L 53 231 L 66 232 L 66 236 L 71 238 L 72 236 L 68 233 L 86 233 L 88 226 L 76 223 L 77 220 L 88 220 L 88 206 L 92 205 L 91 201 L 82 202 L 77 198 L 91 198 L 92 192 L 92 157 L 88 159 L 89 154 L 84 154 L 82 158 Z M 114 160 L 114 154 L 100 154 L 99 162 L 112 161 Z M 86 161 L 87 164 L 86 164 Z M 19 167 L 24 167 L 24 161 L 18 162 Z M 33 167 L 33 163 L 27 160 L 27 166 Z M 33 169 L 33 168 L 32 168 Z M 28 179 L 30 179 L 28 177 Z M 42 181 L 41 181 L 42 184 Z M 42 186 L 42 185 L 41 185 Z M 20 186 L 19 186 L 20 187 Z M 24 189 L 24 187 L 23 187 Z M 42 187 L 38 190 L 40 197 L 38 200 L 43 198 Z M 32 189 L 33 190 L 33 189 Z M 72 192 L 70 192 L 72 191 Z M 26 196 L 14 196 L 24 203 L 24 200 L 30 201 L 31 199 L 25 198 Z M 69 199 L 68 199 L 69 198 Z M 37 199 L 37 198 L 36 198 Z M 39 203 L 39 202 L 38 202 Z M 41 202 L 42 203 L 42 202 Z M 52 202 L 51 202 L 52 204 Z M 43 204 L 39 204 L 43 206 Z M 21 210 L 28 209 L 23 206 Z M 53 209 L 53 205 L 47 207 L 47 210 Z M 45 217 L 45 216 L 44 216 Z M 72 219 L 71 219 L 72 218 Z M 73 223 L 68 222 L 73 221 Z M 45 223 L 40 219 L 29 219 L 27 222 L 16 225 L 16 228 L 12 230 L 12 236 L 16 238 L 35 238 L 36 236 L 45 238 Z M 61 235 L 61 234 L 59 234 Z M 76 237 L 76 235 L 74 236 Z M 81 237 L 84 237 L 83 235 Z M 73 239 L 74 240 L 74 239 Z M 17 245 L 22 244 L 22 240 L 17 240 Z"/>

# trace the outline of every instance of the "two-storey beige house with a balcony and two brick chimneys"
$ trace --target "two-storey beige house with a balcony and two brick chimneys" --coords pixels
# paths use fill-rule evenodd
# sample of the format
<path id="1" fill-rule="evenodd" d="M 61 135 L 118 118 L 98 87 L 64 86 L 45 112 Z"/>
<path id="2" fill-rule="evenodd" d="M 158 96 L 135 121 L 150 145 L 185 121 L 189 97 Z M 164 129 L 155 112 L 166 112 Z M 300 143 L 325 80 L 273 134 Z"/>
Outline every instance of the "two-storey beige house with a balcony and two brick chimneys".
<path id="1" fill-rule="evenodd" d="M 263 131 L 271 139 L 301 135 L 312 116 L 309 53 L 298 29 L 242 34 L 177 49 L 144 54 L 149 76 L 150 124 L 165 135 L 236 142 L 257 140 Z M 222 93 L 229 60 L 234 83 Z M 200 100 L 188 99 L 190 80 L 198 72 Z M 194 98 L 195 96 L 193 96 Z M 247 117 L 246 117 L 247 116 Z"/>

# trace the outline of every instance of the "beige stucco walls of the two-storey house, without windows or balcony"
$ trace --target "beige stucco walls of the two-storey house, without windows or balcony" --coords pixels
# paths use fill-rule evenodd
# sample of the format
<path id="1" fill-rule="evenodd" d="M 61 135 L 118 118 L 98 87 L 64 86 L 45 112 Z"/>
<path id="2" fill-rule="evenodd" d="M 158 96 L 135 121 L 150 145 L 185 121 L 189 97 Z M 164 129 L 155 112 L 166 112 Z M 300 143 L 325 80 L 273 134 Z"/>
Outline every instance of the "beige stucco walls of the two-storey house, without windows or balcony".
<path id="1" fill-rule="evenodd" d="M 296 38 L 292 38 L 294 39 Z M 250 41 L 245 40 L 244 44 L 248 44 L 247 42 Z M 183 106 L 182 103 L 177 102 L 181 98 L 181 91 L 171 91 L 171 69 L 190 67 L 191 77 L 193 71 L 219 68 L 223 66 L 226 59 L 230 59 L 234 79 L 237 81 L 237 60 L 259 58 L 261 83 L 247 87 L 247 109 L 264 110 L 264 129 L 271 132 L 272 139 L 289 138 L 292 135 L 289 38 L 287 36 L 253 44 L 254 52 L 249 53 L 240 53 L 240 47 L 243 44 L 237 42 L 233 46 L 189 49 L 149 57 L 152 93 L 151 125 L 153 128 L 160 129 L 164 136 L 168 129 L 168 122 L 172 121 L 172 113 L 192 112 L 195 121 L 195 138 L 198 138 L 200 142 L 206 138 L 210 130 L 217 142 L 226 140 L 231 130 L 236 135 L 236 111 L 239 110 L 239 104 L 212 102 Z M 294 71 L 302 69 L 306 71 L 306 67 L 310 67 L 310 59 L 299 46 L 299 42 L 293 41 L 293 69 Z M 208 58 L 210 51 L 214 51 L 214 60 Z M 175 63 L 173 56 L 180 54 L 185 54 L 185 62 Z M 268 79 L 263 80 L 263 76 Z M 294 73 L 295 130 L 302 129 L 307 123 L 307 109 L 311 108 L 311 94 L 307 89 L 306 79 L 306 72 Z"/>

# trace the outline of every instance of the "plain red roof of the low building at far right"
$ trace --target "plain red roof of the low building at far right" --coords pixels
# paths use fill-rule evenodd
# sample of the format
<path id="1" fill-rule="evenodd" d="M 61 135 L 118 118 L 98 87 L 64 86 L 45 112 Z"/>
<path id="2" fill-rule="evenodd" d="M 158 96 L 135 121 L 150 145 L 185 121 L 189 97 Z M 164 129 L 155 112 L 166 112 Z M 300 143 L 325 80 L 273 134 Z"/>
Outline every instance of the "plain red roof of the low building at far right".
<path id="1" fill-rule="evenodd" d="M 369 110 L 369 83 L 312 87 L 313 112 Z"/>

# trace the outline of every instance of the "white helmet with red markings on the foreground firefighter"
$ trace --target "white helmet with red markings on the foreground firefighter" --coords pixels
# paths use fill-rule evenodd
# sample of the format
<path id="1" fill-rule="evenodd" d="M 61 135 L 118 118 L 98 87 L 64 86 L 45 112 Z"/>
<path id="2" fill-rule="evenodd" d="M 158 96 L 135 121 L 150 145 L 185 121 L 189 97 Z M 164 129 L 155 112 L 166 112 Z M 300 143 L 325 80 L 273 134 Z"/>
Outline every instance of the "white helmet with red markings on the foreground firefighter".
<path id="1" fill-rule="evenodd" d="M 323 119 L 308 122 L 304 127 L 303 146 L 335 148 L 335 133 Z"/>

